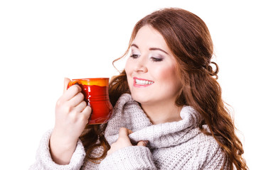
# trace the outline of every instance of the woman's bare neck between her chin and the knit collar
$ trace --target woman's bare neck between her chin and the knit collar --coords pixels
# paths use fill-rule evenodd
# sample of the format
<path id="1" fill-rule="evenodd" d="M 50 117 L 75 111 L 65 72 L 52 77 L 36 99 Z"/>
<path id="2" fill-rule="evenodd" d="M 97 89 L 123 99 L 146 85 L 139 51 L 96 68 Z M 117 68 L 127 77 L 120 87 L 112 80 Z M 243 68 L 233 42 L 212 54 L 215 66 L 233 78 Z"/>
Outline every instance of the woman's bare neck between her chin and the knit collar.
<path id="1" fill-rule="evenodd" d="M 182 106 L 176 106 L 175 103 L 142 104 L 142 109 L 153 125 L 182 120 L 181 108 Z"/>

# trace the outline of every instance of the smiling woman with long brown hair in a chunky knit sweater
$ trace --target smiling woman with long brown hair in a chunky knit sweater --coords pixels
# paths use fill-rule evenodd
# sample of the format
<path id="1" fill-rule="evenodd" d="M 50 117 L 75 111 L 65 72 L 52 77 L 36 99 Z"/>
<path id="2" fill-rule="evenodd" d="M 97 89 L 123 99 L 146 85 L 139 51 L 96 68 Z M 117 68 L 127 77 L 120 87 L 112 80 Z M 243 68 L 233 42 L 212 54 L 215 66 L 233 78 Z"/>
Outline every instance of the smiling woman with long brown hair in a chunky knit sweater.
<path id="1" fill-rule="evenodd" d="M 110 82 L 107 125 L 86 126 L 90 106 L 72 86 L 31 169 L 247 169 L 201 18 L 180 8 L 151 13 L 134 27 L 129 51 Z"/>

